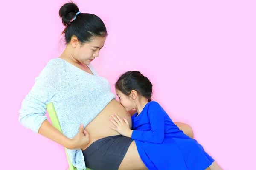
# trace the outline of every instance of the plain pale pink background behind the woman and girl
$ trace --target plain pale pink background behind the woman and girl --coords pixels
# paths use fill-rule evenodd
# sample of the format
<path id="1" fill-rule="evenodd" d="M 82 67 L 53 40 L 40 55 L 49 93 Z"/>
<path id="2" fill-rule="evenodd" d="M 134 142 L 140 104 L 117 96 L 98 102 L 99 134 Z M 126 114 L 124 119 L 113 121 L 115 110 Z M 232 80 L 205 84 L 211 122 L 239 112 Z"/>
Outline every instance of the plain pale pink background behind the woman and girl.
<path id="1" fill-rule="evenodd" d="M 1 3 L 3 170 L 68 168 L 64 147 L 18 122 L 35 77 L 64 49 L 58 17 L 64 2 Z M 255 167 L 255 1 L 76 2 L 81 12 L 101 17 L 109 31 L 93 62 L 99 74 L 113 85 L 123 72 L 141 71 L 154 84 L 154 100 L 174 121 L 191 125 L 224 170 Z"/>

